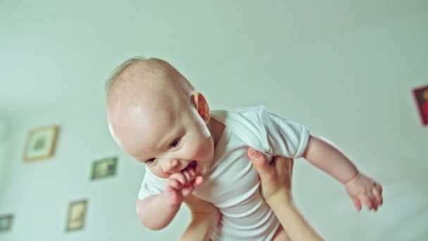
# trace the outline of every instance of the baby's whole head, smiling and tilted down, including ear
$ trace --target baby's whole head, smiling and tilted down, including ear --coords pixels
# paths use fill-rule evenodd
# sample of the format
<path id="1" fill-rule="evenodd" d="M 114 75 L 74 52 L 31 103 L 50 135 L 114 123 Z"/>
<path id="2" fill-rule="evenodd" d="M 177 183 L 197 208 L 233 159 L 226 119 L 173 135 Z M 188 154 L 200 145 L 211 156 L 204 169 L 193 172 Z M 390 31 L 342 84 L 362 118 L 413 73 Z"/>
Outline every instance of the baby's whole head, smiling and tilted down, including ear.
<path id="1" fill-rule="evenodd" d="M 108 127 L 127 154 L 160 178 L 196 166 L 205 174 L 214 155 L 206 99 L 168 62 L 131 58 L 107 82 Z"/>

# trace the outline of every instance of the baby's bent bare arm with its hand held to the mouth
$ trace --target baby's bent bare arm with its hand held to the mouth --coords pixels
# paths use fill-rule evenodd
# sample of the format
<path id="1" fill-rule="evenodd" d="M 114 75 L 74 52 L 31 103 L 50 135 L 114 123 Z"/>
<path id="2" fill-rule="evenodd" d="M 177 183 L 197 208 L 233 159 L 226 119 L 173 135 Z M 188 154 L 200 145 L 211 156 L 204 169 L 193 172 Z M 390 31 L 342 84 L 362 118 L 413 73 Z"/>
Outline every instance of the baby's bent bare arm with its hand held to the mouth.
<path id="1" fill-rule="evenodd" d="M 165 192 L 137 201 L 141 222 L 151 230 L 165 228 L 177 214 L 183 200 L 201 183 L 202 177 L 195 176 L 191 168 L 170 175 Z"/>

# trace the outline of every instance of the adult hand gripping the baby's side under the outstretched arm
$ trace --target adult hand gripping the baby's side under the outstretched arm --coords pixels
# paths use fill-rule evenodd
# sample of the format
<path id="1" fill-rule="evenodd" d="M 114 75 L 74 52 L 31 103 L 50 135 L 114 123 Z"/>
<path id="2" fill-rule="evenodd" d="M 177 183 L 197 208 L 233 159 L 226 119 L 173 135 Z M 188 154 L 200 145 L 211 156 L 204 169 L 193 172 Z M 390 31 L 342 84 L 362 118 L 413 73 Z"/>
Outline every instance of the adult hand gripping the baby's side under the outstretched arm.
<path id="1" fill-rule="evenodd" d="M 291 176 L 294 160 L 283 156 L 274 156 L 269 163 L 265 155 L 251 147 L 248 147 L 247 154 L 258 175 L 260 175 L 262 196 L 269 199 L 272 194 L 281 188 L 285 188 L 289 199 L 291 199 Z"/>

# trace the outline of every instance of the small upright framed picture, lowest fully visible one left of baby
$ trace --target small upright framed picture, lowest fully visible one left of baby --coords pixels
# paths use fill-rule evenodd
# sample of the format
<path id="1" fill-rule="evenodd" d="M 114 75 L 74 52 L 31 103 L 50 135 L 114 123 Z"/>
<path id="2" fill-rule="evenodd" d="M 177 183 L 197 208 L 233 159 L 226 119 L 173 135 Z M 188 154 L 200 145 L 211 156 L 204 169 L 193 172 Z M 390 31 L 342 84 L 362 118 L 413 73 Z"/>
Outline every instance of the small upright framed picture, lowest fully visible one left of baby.
<path id="1" fill-rule="evenodd" d="M 68 206 L 67 232 L 81 230 L 84 228 L 84 219 L 86 217 L 87 200 L 80 200 L 70 203 Z"/>

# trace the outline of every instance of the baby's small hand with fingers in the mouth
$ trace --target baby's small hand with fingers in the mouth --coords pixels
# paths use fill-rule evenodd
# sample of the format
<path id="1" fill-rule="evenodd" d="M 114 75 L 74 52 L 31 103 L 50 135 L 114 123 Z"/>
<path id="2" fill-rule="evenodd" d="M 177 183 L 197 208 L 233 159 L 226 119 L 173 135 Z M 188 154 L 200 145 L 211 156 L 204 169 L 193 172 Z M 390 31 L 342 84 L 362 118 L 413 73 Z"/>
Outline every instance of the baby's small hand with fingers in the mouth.
<path id="1" fill-rule="evenodd" d="M 202 177 L 195 175 L 194 168 L 187 168 L 180 173 L 170 175 L 165 194 L 170 198 L 173 205 L 180 205 L 201 183 Z"/>

